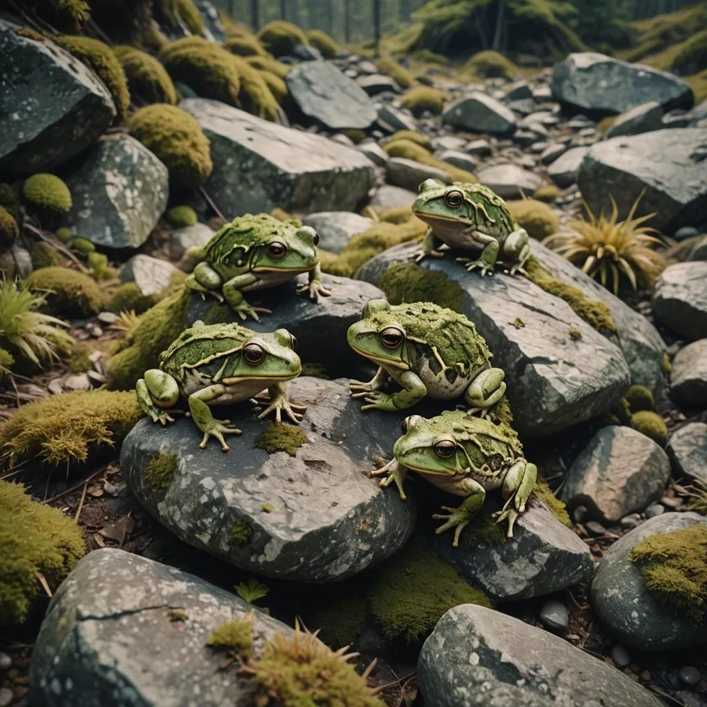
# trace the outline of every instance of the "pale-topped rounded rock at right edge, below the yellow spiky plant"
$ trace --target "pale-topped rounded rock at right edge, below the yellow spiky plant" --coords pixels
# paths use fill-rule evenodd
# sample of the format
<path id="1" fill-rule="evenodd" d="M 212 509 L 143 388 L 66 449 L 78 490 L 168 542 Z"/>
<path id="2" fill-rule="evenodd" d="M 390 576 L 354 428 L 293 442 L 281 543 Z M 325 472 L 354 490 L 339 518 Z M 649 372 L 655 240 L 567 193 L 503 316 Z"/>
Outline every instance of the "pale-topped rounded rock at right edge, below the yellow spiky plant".
<path id="1" fill-rule="evenodd" d="M 669 265 L 653 288 L 653 314 L 686 339 L 707 337 L 707 262 Z"/>

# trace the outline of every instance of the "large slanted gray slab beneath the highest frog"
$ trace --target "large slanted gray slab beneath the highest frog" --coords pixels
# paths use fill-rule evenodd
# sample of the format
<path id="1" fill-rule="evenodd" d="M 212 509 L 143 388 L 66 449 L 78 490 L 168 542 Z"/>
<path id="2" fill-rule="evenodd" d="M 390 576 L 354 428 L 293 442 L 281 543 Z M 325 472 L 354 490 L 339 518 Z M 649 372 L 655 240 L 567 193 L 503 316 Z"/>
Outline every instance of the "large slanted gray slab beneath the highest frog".
<path id="1" fill-rule="evenodd" d="M 417 247 L 409 243 L 382 252 L 358 278 L 378 284 L 392 264 L 412 262 Z M 602 414 L 626 391 L 630 374 L 619 347 L 525 277 L 500 270 L 492 277 L 469 273 L 452 254 L 425 259 L 421 267 L 442 272 L 462 287 L 460 311 L 488 342 L 494 366 L 506 371 L 521 435 L 549 435 Z M 577 339 L 569 334 L 574 327 Z"/>

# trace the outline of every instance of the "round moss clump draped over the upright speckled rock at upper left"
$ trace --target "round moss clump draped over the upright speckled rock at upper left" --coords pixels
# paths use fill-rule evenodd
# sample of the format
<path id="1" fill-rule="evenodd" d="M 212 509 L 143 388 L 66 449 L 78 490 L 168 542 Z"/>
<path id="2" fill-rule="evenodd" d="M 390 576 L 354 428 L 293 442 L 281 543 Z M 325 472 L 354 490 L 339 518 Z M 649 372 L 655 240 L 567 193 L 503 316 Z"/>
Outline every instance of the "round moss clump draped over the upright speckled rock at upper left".
<path id="1" fill-rule="evenodd" d="M 214 169 L 209 139 L 196 119 L 174 105 L 141 108 L 129 119 L 128 130 L 165 164 L 175 189 L 200 187 Z"/>

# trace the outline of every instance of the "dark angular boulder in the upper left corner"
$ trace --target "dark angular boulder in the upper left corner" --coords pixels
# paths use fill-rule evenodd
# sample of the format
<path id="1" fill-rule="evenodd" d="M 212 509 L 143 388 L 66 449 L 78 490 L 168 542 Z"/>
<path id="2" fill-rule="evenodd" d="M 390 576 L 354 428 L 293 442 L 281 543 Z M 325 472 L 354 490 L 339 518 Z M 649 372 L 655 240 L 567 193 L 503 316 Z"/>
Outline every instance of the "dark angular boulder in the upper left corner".
<path id="1" fill-rule="evenodd" d="M 115 104 L 71 54 L 16 29 L 0 19 L 0 172 L 46 172 L 98 139 Z"/>

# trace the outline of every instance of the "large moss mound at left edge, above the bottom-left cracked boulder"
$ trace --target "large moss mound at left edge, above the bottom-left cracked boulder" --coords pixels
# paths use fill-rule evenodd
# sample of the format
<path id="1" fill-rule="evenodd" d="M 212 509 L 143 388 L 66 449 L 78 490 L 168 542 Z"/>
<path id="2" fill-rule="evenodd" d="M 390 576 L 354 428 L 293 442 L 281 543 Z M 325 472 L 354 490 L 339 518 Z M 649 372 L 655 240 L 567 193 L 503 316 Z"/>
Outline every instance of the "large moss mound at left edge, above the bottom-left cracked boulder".
<path id="1" fill-rule="evenodd" d="M 33 501 L 20 484 L 0 481 L 0 626 L 25 621 L 42 591 L 38 572 L 56 590 L 84 554 L 71 518 Z"/>

